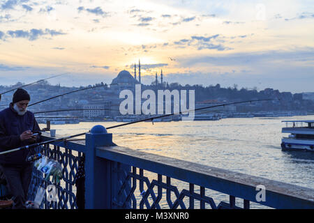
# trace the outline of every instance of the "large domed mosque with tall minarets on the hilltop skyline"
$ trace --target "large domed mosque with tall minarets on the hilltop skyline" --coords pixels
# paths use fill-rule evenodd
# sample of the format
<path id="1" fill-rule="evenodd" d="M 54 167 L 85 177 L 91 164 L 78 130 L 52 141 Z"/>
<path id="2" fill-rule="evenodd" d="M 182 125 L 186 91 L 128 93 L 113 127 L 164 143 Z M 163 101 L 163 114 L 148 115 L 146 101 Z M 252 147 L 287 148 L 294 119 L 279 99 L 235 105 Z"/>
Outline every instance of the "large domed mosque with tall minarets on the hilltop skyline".
<path id="1" fill-rule="evenodd" d="M 141 63 L 138 61 L 138 80 L 136 77 L 136 63 L 134 64 L 134 77 L 127 70 L 122 70 L 119 72 L 118 76 L 112 79 L 111 88 L 114 91 L 121 91 L 124 89 L 134 90 L 135 84 L 142 84 L 141 82 Z M 163 84 L 163 70 L 161 70 L 160 77 L 161 84 Z M 156 72 L 156 86 L 158 85 L 157 72 Z"/>

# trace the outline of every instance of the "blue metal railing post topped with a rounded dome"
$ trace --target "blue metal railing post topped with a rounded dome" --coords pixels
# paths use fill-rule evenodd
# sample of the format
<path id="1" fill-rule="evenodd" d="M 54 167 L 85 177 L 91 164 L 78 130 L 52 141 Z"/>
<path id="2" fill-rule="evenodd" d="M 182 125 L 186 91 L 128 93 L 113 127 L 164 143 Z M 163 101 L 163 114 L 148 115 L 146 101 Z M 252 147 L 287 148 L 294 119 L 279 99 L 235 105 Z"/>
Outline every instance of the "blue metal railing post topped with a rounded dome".
<path id="1" fill-rule="evenodd" d="M 96 146 L 113 146 L 112 134 L 96 125 L 86 134 L 85 208 L 112 208 L 110 160 L 96 156 Z"/>

